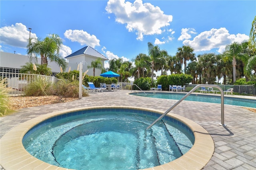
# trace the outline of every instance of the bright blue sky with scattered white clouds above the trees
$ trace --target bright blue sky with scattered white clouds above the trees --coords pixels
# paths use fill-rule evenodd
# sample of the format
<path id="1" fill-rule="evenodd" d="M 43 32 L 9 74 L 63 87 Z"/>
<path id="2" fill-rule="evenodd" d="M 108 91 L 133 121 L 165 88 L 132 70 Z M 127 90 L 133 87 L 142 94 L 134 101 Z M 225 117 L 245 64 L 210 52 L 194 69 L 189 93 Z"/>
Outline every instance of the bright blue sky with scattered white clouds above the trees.
<path id="1" fill-rule="evenodd" d="M 148 54 L 148 42 L 175 55 L 221 53 L 249 38 L 255 0 L 44 0 L 0 1 L 0 50 L 26 55 L 31 37 L 58 34 L 63 57 L 89 45 L 108 59 Z M 105 63 L 105 67 L 108 63 Z"/>

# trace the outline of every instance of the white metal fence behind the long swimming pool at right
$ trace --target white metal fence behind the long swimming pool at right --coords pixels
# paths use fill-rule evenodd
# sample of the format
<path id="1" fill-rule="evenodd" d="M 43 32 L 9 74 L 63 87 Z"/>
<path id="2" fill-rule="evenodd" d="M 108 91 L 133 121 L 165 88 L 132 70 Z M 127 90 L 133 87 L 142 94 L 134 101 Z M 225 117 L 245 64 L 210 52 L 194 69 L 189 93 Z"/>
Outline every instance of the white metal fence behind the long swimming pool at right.
<path id="1" fill-rule="evenodd" d="M 192 88 L 196 87 L 197 85 L 198 84 L 188 84 L 186 86 L 186 92 L 189 92 Z M 218 84 L 217 86 L 222 88 L 223 91 L 233 88 L 234 93 L 256 95 L 256 87 L 254 85 L 222 85 L 222 84 Z M 198 92 L 198 90 L 200 90 L 200 88 L 198 88 L 195 92 Z M 212 90 L 218 90 L 218 89 L 213 87 Z"/>

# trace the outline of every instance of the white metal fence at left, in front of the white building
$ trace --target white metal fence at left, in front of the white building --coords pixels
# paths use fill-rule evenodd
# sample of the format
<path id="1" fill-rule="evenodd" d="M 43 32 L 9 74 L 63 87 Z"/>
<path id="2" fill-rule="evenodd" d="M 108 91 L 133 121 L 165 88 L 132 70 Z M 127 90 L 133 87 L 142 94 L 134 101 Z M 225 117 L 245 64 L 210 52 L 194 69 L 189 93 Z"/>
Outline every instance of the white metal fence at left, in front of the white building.
<path id="1" fill-rule="evenodd" d="M 56 82 L 56 77 L 44 76 L 39 74 L 23 74 L 0 72 L 0 79 L 5 80 L 6 88 L 10 88 L 9 96 L 24 95 L 24 91 L 28 84 L 36 80 L 38 77 L 44 77 L 48 82 Z M 6 78 L 6 79 L 5 79 Z"/>

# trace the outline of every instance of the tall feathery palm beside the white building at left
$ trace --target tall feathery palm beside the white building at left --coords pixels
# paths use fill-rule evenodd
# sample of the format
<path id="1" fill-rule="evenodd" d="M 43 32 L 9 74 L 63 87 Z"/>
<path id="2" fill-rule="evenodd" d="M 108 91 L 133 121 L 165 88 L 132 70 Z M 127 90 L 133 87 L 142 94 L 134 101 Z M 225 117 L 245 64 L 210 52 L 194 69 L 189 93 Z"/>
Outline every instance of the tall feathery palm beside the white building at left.
<path id="1" fill-rule="evenodd" d="M 57 63 L 63 69 L 66 69 L 68 63 L 59 55 L 61 45 L 62 40 L 56 34 L 49 35 L 44 40 L 32 38 L 27 45 L 28 57 L 32 61 L 37 55 L 40 55 L 41 64 L 48 64 L 48 60 L 50 60 Z"/>

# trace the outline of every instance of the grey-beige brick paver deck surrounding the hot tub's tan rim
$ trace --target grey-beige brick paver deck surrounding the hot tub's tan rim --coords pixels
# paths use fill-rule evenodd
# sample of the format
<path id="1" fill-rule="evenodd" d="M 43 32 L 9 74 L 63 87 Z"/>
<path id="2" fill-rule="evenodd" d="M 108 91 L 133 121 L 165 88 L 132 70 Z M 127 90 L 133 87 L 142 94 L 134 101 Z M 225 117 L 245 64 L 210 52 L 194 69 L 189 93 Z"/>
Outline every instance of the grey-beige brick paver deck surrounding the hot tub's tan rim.
<path id="1" fill-rule="evenodd" d="M 12 127 L 42 114 L 88 106 L 136 106 L 166 111 L 177 100 L 128 95 L 130 91 L 95 93 L 73 102 L 29 107 L 0 117 L 0 137 Z M 238 106 L 224 106 L 225 124 L 221 122 L 220 104 L 182 101 L 170 113 L 184 116 L 206 129 L 214 140 L 215 151 L 205 170 L 256 170 L 256 113 Z M 2 168 L 2 167 L 1 167 Z"/>

